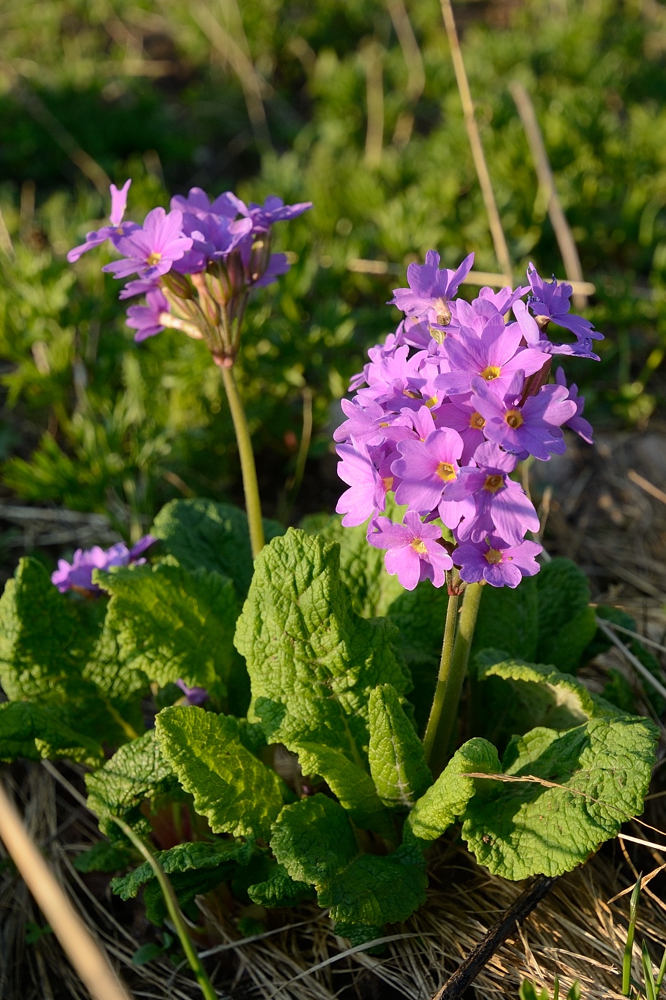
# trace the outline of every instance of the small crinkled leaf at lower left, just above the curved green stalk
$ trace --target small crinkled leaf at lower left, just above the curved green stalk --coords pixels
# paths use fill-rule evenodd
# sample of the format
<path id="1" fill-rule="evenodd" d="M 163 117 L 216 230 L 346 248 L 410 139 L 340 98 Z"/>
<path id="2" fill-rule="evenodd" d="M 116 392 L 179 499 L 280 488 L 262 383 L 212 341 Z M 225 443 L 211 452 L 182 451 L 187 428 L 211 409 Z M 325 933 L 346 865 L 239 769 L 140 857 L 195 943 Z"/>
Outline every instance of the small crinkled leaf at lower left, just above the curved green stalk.
<path id="1" fill-rule="evenodd" d="M 116 750 L 104 767 L 87 774 L 85 780 L 88 808 L 97 815 L 102 833 L 112 841 L 124 842 L 113 816 L 124 819 L 137 833 L 149 835 L 150 825 L 141 813 L 142 804 L 163 793 L 179 792 L 152 729 Z"/>

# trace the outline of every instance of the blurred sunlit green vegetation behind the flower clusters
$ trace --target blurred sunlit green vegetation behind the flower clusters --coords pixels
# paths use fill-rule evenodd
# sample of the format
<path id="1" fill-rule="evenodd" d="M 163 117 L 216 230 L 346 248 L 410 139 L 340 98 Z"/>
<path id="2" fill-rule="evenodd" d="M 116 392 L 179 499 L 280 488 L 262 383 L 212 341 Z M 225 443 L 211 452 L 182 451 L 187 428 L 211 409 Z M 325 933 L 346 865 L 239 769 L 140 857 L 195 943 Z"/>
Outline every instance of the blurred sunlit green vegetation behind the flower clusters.
<path id="1" fill-rule="evenodd" d="M 606 335 L 568 374 L 599 426 L 644 428 L 664 394 L 666 7 L 658 0 L 459 3 L 456 17 L 516 275 L 564 271 L 508 86 L 531 94 Z M 199 185 L 310 199 L 276 227 L 295 263 L 259 293 L 239 378 L 273 513 L 304 400 L 314 435 L 395 327 L 385 303 L 436 248 L 498 270 L 437 0 L 44 0 L 0 5 L 0 467 L 5 500 L 108 513 L 136 536 L 168 499 L 241 494 L 231 422 L 205 348 L 132 340 L 102 248 L 104 174 L 128 216 Z M 385 262 L 384 274 L 350 261 Z M 473 295 L 473 290 L 465 292 Z M 333 498 L 333 500 L 332 500 Z"/>

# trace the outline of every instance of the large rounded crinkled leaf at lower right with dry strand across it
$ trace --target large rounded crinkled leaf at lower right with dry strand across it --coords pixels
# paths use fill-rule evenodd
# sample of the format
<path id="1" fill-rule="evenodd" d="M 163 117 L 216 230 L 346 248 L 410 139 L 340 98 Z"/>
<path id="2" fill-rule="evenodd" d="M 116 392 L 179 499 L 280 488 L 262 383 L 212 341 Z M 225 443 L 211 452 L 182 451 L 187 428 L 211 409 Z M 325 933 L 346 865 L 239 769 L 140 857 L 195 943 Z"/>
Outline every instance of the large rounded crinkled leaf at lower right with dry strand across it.
<path id="1" fill-rule="evenodd" d="M 642 812 L 656 736 L 646 719 L 620 716 L 516 737 L 505 773 L 538 780 L 484 781 L 468 803 L 463 838 L 505 878 L 570 871 Z"/>

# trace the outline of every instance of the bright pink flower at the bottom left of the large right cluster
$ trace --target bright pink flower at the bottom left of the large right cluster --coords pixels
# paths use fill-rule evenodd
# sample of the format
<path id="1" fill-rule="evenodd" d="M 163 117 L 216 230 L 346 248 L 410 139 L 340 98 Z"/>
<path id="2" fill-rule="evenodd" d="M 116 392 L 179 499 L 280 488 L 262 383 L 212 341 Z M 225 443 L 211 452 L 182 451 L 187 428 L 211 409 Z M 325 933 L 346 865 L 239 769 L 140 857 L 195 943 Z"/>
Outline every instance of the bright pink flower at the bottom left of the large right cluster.
<path id="1" fill-rule="evenodd" d="M 453 566 L 451 556 L 437 541 L 442 532 L 435 524 L 423 524 L 418 514 L 408 510 L 404 524 L 394 524 L 388 517 L 372 522 L 368 541 L 376 549 L 386 549 L 384 565 L 405 590 L 414 590 L 421 580 L 432 580 L 436 587 L 444 583 L 444 574 Z"/>

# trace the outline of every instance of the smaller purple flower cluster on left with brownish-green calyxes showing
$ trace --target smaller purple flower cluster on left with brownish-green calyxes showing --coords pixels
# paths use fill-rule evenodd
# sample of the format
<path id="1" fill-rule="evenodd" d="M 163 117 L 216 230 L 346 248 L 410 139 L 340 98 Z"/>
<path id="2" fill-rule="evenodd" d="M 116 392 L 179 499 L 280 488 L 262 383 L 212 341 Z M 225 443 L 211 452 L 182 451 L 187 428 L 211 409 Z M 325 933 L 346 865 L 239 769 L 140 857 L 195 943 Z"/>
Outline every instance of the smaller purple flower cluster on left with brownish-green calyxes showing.
<path id="1" fill-rule="evenodd" d="M 120 298 L 146 296 L 146 305 L 127 310 L 134 339 L 173 327 L 204 340 L 217 364 L 233 364 L 250 290 L 289 270 L 285 254 L 271 253 L 271 227 L 312 203 L 285 205 L 271 195 L 263 205 L 246 205 L 231 191 L 211 202 L 192 188 L 187 198 L 171 199 L 170 212 L 154 208 L 140 226 L 122 221 L 130 183 L 120 191 L 111 185 L 111 225 L 88 233 L 67 259 L 74 262 L 110 240 L 122 259 L 103 270 L 131 278 Z"/>

